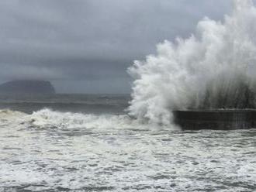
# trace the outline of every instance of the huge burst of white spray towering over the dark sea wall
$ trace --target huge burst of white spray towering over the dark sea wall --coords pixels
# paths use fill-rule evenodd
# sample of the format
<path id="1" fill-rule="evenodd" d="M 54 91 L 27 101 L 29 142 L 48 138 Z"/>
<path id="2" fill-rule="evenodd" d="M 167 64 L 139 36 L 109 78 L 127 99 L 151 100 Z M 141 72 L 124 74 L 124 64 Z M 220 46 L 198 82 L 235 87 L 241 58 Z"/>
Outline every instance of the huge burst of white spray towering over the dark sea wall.
<path id="1" fill-rule="evenodd" d="M 165 40 L 155 55 L 133 63 L 128 111 L 169 125 L 173 110 L 255 108 L 255 64 L 256 9 L 235 0 L 223 21 L 205 17 L 188 39 Z"/>

